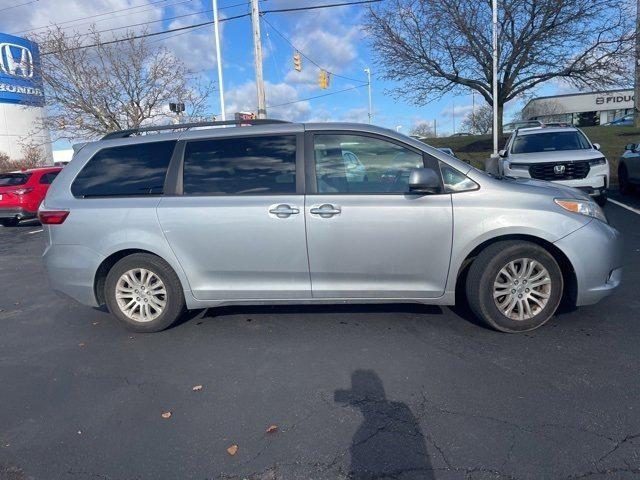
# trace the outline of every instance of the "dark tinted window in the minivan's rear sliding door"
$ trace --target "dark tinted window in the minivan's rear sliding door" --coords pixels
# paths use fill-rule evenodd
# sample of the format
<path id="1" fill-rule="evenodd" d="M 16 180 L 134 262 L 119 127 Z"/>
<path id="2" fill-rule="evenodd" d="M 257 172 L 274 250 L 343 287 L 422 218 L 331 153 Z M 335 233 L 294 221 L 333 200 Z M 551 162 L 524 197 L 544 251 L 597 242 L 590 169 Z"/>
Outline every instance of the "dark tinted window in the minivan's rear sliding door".
<path id="1" fill-rule="evenodd" d="M 225 138 L 187 143 L 185 195 L 296 192 L 296 137 Z"/>

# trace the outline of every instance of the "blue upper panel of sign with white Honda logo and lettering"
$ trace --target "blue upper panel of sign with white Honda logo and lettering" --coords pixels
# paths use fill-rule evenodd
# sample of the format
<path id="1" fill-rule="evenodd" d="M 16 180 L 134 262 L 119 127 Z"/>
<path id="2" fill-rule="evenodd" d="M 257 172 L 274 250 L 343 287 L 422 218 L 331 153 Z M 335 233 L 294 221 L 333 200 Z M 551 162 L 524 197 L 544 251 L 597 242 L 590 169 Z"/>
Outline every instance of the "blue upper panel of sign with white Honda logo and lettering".
<path id="1" fill-rule="evenodd" d="M 38 45 L 0 33 L 0 103 L 43 106 Z"/>

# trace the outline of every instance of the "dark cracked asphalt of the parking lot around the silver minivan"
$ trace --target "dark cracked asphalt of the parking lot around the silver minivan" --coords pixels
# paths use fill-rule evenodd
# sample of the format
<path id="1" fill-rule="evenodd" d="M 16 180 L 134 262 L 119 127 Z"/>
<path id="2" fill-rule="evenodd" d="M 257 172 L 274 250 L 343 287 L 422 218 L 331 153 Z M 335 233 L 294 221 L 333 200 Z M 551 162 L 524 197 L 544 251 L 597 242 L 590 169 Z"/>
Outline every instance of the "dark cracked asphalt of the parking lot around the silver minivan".
<path id="1" fill-rule="evenodd" d="M 621 288 L 518 335 L 417 305 L 132 334 L 49 290 L 37 223 L 0 227 L 0 479 L 638 478 L 640 214 L 606 213 Z"/>

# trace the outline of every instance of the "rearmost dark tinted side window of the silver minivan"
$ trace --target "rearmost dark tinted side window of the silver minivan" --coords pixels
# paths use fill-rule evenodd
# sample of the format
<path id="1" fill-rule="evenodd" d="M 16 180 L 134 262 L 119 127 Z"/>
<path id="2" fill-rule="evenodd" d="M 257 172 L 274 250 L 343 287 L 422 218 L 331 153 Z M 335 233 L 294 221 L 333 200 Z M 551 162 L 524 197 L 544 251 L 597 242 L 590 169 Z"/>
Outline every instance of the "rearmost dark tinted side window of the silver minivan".
<path id="1" fill-rule="evenodd" d="M 161 194 L 175 141 L 105 148 L 71 185 L 76 197 Z"/>

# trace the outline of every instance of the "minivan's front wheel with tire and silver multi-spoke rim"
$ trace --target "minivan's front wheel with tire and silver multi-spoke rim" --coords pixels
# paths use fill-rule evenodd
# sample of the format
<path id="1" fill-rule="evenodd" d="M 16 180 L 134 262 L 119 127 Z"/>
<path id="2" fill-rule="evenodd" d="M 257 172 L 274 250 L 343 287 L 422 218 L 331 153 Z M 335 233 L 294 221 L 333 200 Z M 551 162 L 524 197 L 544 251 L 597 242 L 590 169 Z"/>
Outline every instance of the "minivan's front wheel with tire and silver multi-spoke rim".
<path id="1" fill-rule="evenodd" d="M 466 292 L 471 310 L 502 332 L 526 332 L 544 325 L 562 299 L 558 262 L 527 241 L 497 242 L 471 264 Z"/>

